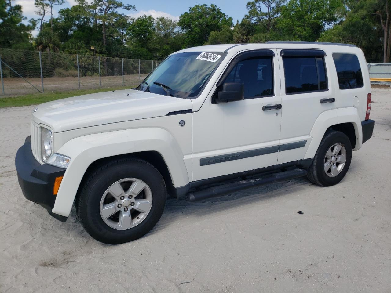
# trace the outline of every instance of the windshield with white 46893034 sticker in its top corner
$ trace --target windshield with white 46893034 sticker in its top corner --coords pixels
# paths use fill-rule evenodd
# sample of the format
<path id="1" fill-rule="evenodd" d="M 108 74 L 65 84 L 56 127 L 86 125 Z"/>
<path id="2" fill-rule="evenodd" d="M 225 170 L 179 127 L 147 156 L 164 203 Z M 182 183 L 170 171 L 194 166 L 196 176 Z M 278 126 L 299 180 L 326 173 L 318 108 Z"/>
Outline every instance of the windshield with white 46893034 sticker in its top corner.
<path id="1" fill-rule="evenodd" d="M 169 56 L 138 86 L 139 91 L 187 98 L 197 96 L 223 53 L 186 52 Z"/>

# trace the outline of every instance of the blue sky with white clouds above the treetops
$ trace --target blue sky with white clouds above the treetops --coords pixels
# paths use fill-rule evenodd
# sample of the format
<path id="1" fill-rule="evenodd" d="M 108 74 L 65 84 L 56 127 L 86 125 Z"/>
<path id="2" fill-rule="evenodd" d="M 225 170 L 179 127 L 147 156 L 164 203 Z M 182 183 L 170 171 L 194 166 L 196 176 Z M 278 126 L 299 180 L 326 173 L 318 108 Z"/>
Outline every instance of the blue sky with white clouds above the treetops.
<path id="1" fill-rule="evenodd" d="M 125 4 L 132 4 L 136 6 L 137 11 L 132 11 L 128 13 L 123 11 L 123 13 L 130 14 L 131 16 L 138 17 L 143 14 L 151 14 L 154 17 L 166 16 L 178 20 L 179 15 L 189 10 L 189 7 L 196 4 L 216 4 L 219 6 L 223 13 L 231 16 L 233 18 L 233 23 L 236 23 L 236 20 L 241 20 L 244 14 L 247 13 L 246 4 L 248 0 L 239 0 L 239 1 L 224 1 L 224 0 L 215 0 L 215 1 L 178 1 L 178 0 L 124 0 Z M 65 4 L 62 6 L 56 6 L 54 11 L 55 16 L 57 11 L 63 7 L 70 7 L 75 5 L 75 0 L 66 0 Z M 27 18 L 38 18 L 35 14 L 36 8 L 34 7 L 34 0 L 16 0 L 14 4 L 20 4 L 23 7 L 23 14 Z M 34 35 L 37 32 L 34 32 Z"/>

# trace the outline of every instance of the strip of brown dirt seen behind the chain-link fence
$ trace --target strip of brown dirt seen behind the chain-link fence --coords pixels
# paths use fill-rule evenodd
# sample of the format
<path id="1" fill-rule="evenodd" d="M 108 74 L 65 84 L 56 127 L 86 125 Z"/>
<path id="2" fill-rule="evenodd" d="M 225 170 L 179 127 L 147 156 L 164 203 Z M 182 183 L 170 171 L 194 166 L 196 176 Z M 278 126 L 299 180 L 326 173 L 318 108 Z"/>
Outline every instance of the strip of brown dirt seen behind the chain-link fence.
<path id="1" fill-rule="evenodd" d="M 143 80 L 147 74 L 141 74 L 140 78 L 138 74 L 124 75 L 125 86 L 133 86 L 139 84 L 140 80 Z M 40 78 L 28 78 L 27 79 L 33 86 L 39 91 L 42 91 L 42 83 Z M 100 85 L 102 88 L 121 86 L 122 75 L 118 76 L 102 76 L 100 78 Z M 0 85 L 1 86 L 1 85 Z M 99 88 L 99 76 L 83 76 L 80 77 L 81 89 Z M 28 82 L 21 78 L 4 78 L 4 93 L 5 95 L 23 95 L 29 93 L 36 93 L 37 89 L 33 88 Z M 70 91 L 73 89 L 79 89 L 79 80 L 76 77 L 45 77 L 43 79 L 43 89 L 47 91 Z M 0 97 L 2 95 L 2 89 L 0 88 Z"/>

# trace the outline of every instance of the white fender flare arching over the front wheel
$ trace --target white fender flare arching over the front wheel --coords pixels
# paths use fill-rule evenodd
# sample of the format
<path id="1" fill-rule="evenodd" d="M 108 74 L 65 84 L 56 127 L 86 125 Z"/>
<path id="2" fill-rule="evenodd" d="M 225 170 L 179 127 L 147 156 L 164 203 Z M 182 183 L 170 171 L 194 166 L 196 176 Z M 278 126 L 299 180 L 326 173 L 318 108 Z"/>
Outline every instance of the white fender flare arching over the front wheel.
<path id="1" fill-rule="evenodd" d="M 156 151 L 161 154 L 174 186 L 189 182 L 184 154 L 178 142 L 161 128 L 127 129 L 89 134 L 66 142 L 57 153 L 71 158 L 57 193 L 52 212 L 69 216 L 77 189 L 88 166 L 98 159 L 133 152 Z"/>

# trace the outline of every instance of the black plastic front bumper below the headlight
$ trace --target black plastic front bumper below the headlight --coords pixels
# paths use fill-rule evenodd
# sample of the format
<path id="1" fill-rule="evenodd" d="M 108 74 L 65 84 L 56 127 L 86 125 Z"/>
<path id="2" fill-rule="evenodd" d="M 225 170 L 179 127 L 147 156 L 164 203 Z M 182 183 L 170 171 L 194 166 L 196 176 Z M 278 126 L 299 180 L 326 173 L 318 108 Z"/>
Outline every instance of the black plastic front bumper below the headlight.
<path id="1" fill-rule="evenodd" d="M 54 180 L 63 176 L 65 169 L 49 164 L 39 164 L 31 152 L 30 136 L 18 149 L 15 157 L 16 173 L 23 195 L 45 209 L 57 220 L 65 222 L 68 217 L 52 213 L 56 195 L 53 195 Z"/>

